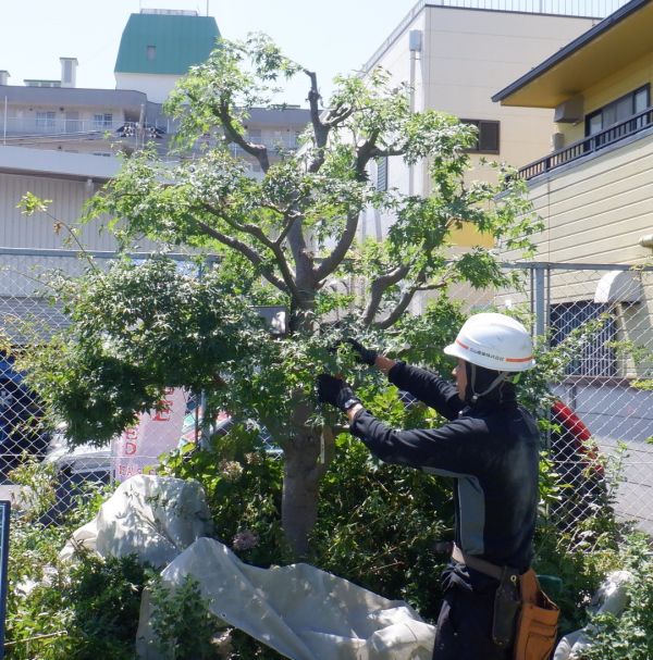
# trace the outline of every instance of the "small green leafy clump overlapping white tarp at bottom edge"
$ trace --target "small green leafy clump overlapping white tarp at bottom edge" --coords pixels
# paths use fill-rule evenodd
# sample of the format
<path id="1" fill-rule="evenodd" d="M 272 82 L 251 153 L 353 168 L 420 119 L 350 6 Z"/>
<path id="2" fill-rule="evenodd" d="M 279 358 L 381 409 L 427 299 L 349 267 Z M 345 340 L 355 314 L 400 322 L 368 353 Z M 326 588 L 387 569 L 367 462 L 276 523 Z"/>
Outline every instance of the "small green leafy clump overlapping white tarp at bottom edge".
<path id="1" fill-rule="evenodd" d="M 150 624 L 159 650 L 170 660 L 215 658 L 212 638 L 222 624 L 213 617 L 199 584 L 190 575 L 174 589 L 160 578 L 150 582 Z"/>

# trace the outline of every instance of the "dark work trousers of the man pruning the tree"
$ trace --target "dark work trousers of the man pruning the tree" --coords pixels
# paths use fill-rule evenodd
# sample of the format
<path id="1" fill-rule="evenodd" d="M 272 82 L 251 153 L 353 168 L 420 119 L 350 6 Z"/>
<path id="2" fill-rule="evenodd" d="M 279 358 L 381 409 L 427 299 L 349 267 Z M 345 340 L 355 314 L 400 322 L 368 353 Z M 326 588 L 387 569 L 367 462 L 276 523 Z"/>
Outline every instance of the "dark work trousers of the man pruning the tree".
<path id="1" fill-rule="evenodd" d="M 454 584 L 444 593 L 433 660 L 509 660 L 512 649 L 492 640 L 495 589 L 471 590 Z"/>

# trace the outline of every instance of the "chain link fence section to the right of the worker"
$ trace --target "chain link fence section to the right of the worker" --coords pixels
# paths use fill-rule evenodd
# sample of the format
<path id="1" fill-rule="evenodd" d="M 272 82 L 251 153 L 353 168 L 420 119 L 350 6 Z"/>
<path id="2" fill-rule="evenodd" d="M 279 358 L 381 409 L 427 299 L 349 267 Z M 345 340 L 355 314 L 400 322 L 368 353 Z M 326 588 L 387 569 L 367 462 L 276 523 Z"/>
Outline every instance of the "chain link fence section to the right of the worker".
<path id="1" fill-rule="evenodd" d="M 510 267 L 523 289 L 493 302 L 526 306 L 560 360 L 546 438 L 563 485 L 553 513 L 574 524 L 611 506 L 653 533 L 653 267 Z"/>

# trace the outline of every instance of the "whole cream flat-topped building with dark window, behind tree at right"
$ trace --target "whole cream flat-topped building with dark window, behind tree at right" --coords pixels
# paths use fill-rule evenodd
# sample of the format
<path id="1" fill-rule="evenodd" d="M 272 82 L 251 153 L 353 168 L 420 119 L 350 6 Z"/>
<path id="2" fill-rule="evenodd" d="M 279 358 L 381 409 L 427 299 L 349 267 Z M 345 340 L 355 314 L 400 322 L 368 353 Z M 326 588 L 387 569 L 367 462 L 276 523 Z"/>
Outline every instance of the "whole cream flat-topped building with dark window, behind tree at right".
<path id="1" fill-rule="evenodd" d="M 552 111 L 528 111 L 492 102 L 492 94 L 591 28 L 599 18 L 579 15 L 567 2 L 531 0 L 420 0 L 365 65 L 385 69 L 394 83 L 412 88 L 414 110 L 435 109 L 475 124 L 475 160 L 485 157 L 521 166 L 551 145 Z M 601 16 L 606 4 L 583 3 Z M 401 159 L 379 163 L 379 185 L 427 195 L 427 164 L 406 167 Z M 476 174 L 479 176 L 486 174 Z M 370 210 L 364 235 L 382 238 L 392 217 Z M 491 247 L 489 237 L 457 231 L 456 245 Z"/>

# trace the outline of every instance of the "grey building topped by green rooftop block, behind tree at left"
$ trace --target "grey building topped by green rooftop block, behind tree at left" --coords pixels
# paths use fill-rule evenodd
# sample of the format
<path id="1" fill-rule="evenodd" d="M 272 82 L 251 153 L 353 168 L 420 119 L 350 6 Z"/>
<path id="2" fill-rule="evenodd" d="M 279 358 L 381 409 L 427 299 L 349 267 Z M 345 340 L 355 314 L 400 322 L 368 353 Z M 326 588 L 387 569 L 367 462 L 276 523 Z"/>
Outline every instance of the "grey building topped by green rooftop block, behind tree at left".
<path id="1" fill-rule="evenodd" d="M 75 58 L 60 59 L 60 80 L 9 85 L 9 72 L 0 71 L 0 247 L 64 247 L 64 233 L 52 232 L 47 216 L 21 215 L 16 204 L 26 191 L 51 199 L 52 215 L 75 223 L 84 202 L 118 171 L 118 151 L 148 144 L 165 157 L 176 126 L 162 102 L 190 66 L 209 57 L 219 36 L 213 17 L 141 10 L 123 32 L 115 89 L 77 88 Z M 247 132 L 272 149 L 293 149 L 308 121 L 308 110 L 299 108 L 254 109 Z M 234 153 L 249 160 L 252 176 L 262 175 L 258 162 L 236 147 Z M 97 226 L 81 232 L 88 249 L 116 247 Z"/>

